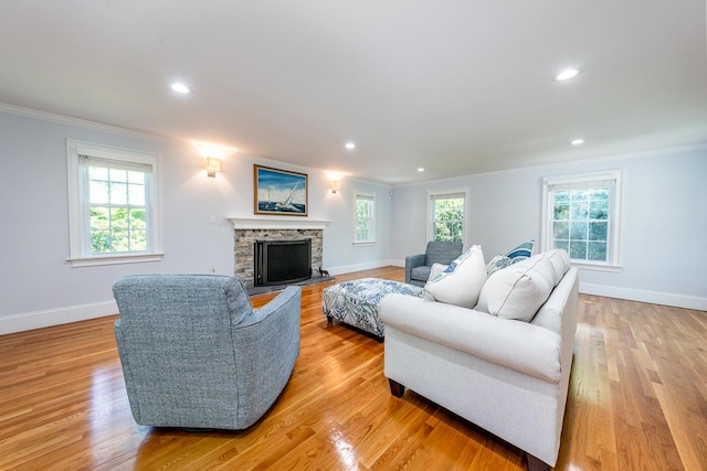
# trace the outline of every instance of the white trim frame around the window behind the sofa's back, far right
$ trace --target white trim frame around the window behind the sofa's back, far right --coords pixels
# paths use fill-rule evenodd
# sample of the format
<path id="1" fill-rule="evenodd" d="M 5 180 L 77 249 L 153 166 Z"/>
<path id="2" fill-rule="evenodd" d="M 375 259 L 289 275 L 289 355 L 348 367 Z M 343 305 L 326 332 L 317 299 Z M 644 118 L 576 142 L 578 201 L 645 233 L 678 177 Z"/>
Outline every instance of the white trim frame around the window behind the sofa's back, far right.
<path id="1" fill-rule="evenodd" d="M 600 182 L 602 180 L 614 180 L 614 201 L 613 201 L 613 217 L 612 217 L 612 261 L 610 264 L 602 261 L 576 261 L 571 264 L 578 268 L 584 268 L 589 270 L 598 271 L 620 271 L 623 266 L 621 265 L 621 195 L 622 195 L 622 176 L 621 170 L 609 170 L 604 172 L 591 172 L 591 173 L 576 173 L 564 176 L 546 176 L 542 179 L 542 231 L 540 239 L 542 242 L 542 251 L 550 249 L 550 207 L 549 207 L 549 189 L 552 185 L 573 184 L 573 183 L 592 183 Z"/>

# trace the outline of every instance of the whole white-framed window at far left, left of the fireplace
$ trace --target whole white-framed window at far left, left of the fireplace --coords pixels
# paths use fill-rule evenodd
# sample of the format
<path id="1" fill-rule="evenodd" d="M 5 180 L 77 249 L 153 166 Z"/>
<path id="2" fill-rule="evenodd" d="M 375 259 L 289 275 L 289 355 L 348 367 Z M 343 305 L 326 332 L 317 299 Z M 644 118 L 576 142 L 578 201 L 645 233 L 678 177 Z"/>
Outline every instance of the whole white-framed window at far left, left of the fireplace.
<path id="1" fill-rule="evenodd" d="M 157 156 L 68 141 L 73 266 L 161 258 Z"/>

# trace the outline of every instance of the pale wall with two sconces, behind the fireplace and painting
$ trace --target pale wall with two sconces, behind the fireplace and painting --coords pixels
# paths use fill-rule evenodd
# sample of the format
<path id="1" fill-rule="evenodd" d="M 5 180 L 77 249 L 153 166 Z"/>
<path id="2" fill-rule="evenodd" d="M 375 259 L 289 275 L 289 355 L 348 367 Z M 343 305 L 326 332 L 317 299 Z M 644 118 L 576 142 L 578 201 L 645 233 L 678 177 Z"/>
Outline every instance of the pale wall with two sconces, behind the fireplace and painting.
<path id="1" fill-rule="evenodd" d="M 324 263 L 333 274 L 388 265 L 390 188 L 327 176 L 247 156 L 223 161 L 215 179 L 189 143 L 99 125 L 0 107 L 0 334 L 117 313 L 110 287 L 127 274 L 233 274 L 229 217 L 253 215 L 253 163 L 309 175 L 309 215 L 330 221 Z M 68 257 L 66 139 L 160 156 L 160 216 L 165 258 L 158 263 L 72 268 Z M 358 185 L 358 186 L 356 186 Z M 377 193 L 378 244 L 354 247 L 354 188 Z M 267 216 L 260 216 L 266 218 Z"/>

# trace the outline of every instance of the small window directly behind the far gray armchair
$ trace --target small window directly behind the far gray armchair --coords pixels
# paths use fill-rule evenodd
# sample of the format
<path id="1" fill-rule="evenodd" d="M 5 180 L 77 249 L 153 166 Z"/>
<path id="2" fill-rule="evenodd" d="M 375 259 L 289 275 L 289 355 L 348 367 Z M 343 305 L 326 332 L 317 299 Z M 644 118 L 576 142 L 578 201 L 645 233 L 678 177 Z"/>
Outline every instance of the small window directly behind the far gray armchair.
<path id="1" fill-rule="evenodd" d="M 430 240 L 464 243 L 466 192 L 430 194 Z"/>

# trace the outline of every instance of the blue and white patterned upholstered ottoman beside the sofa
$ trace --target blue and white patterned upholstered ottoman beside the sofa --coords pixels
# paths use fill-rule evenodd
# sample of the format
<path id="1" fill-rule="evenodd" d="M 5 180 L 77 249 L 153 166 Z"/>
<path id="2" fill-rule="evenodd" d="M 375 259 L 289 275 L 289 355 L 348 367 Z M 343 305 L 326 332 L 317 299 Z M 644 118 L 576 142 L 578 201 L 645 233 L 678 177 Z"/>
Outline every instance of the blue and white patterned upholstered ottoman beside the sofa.
<path id="1" fill-rule="evenodd" d="M 386 335 L 386 325 L 378 318 L 378 306 L 393 292 L 422 298 L 424 288 L 379 278 L 345 281 L 321 291 L 321 309 L 329 322 L 337 319 L 380 340 Z"/>

